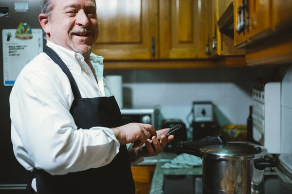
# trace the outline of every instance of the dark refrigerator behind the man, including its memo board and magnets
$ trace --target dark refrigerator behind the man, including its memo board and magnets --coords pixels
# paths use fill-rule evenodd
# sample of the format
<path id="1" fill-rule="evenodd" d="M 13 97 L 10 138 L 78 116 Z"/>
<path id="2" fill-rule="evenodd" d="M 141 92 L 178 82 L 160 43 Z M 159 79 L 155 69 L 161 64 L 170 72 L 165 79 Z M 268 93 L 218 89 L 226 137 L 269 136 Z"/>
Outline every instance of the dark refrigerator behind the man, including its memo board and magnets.
<path id="1" fill-rule="evenodd" d="M 10 74 L 8 75 L 6 72 L 7 67 L 18 65 L 18 63 L 23 64 L 24 59 L 27 60 L 27 58 L 25 56 L 26 54 L 22 52 L 23 60 L 15 60 L 17 59 L 15 58 L 13 63 L 9 60 L 4 62 L 3 59 L 7 58 L 4 57 L 4 53 L 9 53 L 9 59 L 12 59 L 14 54 L 17 55 L 18 50 L 12 49 L 8 52 L 3 43 L 4 41 L 10 41 L 14 34 L 11 34 L 9 31 L 12 29 L 17 32 L 20 24 L 29 25 L 33 31 L 35 31 L 34 29 L 38 29 L 37 32 L 39 33 L 41 31 L 41 26 L 38 21 L 39 14 L 40 0 L 0 0 L 0 81 L 2 82 L 0 84 L 0 194 L 23 194 L 26 184 L 31 178 L 31 174 L 18 163 L 13 153 L 10 136 L 11 120 L 9 108 L 9 95 L 13 86 L 13 78 L 12 81 L 9 81 L 7 77 Z M 25 25 L 23 26 L 26 27 Z M 44 50 L 45 40 L 43 39 L 42 32 L 40 33 L 38 34 L 38 40 L 36 39 L 38 41 L 37 44 L 30 42 L 35 39 L 23 40 L 24 43 L 28 43 L 25 46 L 26 48 L 24 48 L 26 52 L 32 49 L 36 50 L 35 47 L 40 47 L 41 51 Z M 3 36 L 5 36 L 4 39 Z M 31 49 L 27 49 L 30 47 Z M 14 48 L 19 49 L 17 46 Z M 34 53 L 28 52 L 27 55 L 31 55 L 30 57 L 32 57 Z M 18 70 L 19 68 L 21 67 L 18 66 Z"/>

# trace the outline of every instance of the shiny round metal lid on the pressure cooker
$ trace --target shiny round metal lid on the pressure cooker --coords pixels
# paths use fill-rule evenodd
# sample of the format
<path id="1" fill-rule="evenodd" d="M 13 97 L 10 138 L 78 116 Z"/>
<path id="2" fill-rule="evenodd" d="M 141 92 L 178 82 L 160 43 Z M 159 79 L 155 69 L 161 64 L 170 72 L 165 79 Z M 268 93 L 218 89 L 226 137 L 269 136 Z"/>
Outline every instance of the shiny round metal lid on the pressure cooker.
<path id="1" fill-rule="evenodd" d="M 201 146 L 200 153 L 203 157 L 214 159 L 240 158 L 244 156 L 259 159 L 267 155 L 267 148 L 248 142 L 229 142 L 226 144 Z"/>

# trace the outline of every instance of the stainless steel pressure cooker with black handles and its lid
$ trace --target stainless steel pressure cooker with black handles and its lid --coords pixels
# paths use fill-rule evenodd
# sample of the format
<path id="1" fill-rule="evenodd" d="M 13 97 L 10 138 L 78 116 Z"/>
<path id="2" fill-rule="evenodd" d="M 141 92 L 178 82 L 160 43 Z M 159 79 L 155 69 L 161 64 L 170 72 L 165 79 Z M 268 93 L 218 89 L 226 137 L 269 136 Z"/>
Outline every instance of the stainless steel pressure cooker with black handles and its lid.
<path id="1" fill-rule="evenodd" d="M 202 158 L 204 194 L 258 194 L 263 190 L 264 169 L 276 167 L 279 160 L 265 158 L 264 146 L 229 142 L 224 135 L 181 142 L 177 153 Z"/>

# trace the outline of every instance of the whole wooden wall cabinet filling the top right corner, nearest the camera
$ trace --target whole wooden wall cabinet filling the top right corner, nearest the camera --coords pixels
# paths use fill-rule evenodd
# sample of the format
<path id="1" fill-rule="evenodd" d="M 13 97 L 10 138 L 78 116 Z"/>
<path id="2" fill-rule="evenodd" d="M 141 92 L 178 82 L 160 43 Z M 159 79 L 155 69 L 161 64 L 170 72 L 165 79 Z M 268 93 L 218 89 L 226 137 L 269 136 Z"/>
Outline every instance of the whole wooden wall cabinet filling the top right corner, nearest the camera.
<path id="1" fill-rule="evenodd" d="M 248 65 L 292 63 L 291 10 L 291 1 L 249 0 Z"/>

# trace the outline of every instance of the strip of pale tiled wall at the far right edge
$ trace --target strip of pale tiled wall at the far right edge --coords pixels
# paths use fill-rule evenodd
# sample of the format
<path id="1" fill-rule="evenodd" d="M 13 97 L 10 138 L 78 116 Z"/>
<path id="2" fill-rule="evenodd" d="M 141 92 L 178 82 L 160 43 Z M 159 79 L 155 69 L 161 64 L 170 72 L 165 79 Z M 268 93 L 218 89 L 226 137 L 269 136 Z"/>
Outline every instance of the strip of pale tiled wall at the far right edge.
<path id="1" fill-rule="evenodd" d="M 292 66 L 282 80 L 280 159 L 292 169 Z"/>

